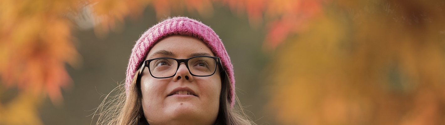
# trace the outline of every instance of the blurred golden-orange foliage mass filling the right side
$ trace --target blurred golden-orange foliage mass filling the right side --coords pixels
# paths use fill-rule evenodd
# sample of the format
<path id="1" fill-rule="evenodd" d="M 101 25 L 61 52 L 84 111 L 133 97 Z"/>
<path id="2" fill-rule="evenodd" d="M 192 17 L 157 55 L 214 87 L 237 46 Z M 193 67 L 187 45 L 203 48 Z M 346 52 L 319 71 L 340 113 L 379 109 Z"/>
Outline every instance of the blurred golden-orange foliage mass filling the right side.
<path id="1" fill-rule="evenodd" d="M 443 0 L 337 0 L 275 54 L 283 125 L 445 124 Z"/>

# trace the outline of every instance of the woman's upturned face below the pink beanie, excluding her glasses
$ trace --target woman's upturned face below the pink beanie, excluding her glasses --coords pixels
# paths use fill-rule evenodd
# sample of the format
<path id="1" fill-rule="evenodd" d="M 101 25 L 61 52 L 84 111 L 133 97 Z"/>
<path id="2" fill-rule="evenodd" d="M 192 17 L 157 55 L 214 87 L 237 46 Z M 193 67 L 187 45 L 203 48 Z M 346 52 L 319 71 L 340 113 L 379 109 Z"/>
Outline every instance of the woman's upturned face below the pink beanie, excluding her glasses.
<path id="1" fill-rule="evenodd" d="M 214 56 L 200 39 L 170 35 L 151 48 L 146 60 L 160 57 L 188 59 L 198 55 Z M 219 68 L 211 76 L 197 77 L 181 63 L 173 77 L 153 78 L 146 67 L 141 77 L 141 90 L 142 108 L 150 125 L 210 125 L 218 115 Z"/>

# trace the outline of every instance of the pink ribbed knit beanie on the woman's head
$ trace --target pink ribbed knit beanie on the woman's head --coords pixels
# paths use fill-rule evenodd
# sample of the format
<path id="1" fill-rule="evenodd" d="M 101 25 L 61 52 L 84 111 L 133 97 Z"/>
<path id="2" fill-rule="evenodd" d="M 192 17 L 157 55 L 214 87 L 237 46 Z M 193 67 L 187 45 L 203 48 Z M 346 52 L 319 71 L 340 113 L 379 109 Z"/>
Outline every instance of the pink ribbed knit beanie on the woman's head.
<path id="1" fill-rule="evenodd" d="M 210 27 L 187 17 L 174 17 L 164 20 L 141 35 L 141 38 L 138 39 L 131 51 L 130 60 L 128 62 L 127 76 L 125 79 L 126 93 L 128 94 L 128 89 L 134 74 L 139 69 L 139 64 L 144 61 L 150 48 L 153 47 L 154 43 L 158 42 L 159 39 L 168 35 L 189 35 L 201 39 L 208 47 L 210 47 L 215 56 L 221 58 L 223 68 L 226 70 L 232 84 L 228 97 L 230 97 L 231 106 L 233 106 L 235 104 L 235 77 L 233 75 L 233 66 L 230 62 L 230 57 L 227 55 L 223 42 L 221 42 L 221 39 L 219 39 L 218 35 L 216 35 Z"/>

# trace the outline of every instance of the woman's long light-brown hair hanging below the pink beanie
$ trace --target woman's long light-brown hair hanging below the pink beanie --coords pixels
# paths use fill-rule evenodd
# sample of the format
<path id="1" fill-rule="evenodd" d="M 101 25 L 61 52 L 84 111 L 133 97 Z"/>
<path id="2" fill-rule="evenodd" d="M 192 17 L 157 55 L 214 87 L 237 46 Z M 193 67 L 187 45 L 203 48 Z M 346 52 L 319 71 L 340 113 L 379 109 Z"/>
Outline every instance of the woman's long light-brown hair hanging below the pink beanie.
<path id="1" fill-rule="evenodd" d="M 230 80 L 224 70 L 221 71 L 221 93 L 219 97 L 219 111 L 214 125 L 256 125 L 251 121 L 238 98 L 235 98 L 238 105 L 231 106 L 229 90 Z M 105 96 L 104 101 L 97 107 L 96 113 L 99 115 L 96 125 L 149 125 L 142 110 L 142 91 L 140 77 L 138 73 L 134 75 L 133 82 L 129 87 L 128 97 L 125 94 L 124 84 L 117 86 Z M 116 96 L 110 97 L 113 91 L 117 91 Z M 110 98 L 107 100 L 107 98 Z"/>

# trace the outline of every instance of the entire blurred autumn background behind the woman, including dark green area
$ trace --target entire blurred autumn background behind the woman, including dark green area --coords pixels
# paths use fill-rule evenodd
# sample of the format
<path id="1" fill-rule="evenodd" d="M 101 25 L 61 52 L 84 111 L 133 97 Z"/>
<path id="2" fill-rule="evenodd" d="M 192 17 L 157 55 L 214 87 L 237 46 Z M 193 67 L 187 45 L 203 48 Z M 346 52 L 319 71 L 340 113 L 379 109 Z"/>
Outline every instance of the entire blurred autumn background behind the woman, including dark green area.
<path id="1" fill-rule="evenodd" d="M 1 0 L 0 125 L 94 125 L 174 16 L 223 40 L 258 125 L 445 125 L 445 0 Z"/>

